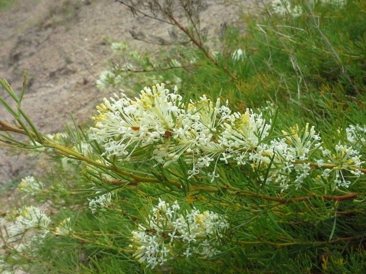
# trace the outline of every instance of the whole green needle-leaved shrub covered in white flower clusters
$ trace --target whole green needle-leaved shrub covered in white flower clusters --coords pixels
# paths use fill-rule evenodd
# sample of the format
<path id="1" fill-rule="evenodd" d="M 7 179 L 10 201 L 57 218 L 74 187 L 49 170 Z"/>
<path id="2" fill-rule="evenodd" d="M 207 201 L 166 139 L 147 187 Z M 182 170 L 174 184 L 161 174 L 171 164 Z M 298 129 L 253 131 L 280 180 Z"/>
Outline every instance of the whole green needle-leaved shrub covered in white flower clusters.
<path id="1" fill-rule="evenodd" d="M 365 272 L 364 5 L 274 1 L 281 16 L 249 21 L 248 37 L 223 24 L 213 52 L 176 1 L 120 2 L 185 40 L 163 56 L 113 42 L 122 63 L 97 86 L 120 92 L 91 128 L 73 118 L 42 134 L 22 110 L 25 86 L 0 80 L 16 124 L 0 119 L 0 142 L 52 162 L 11 182 L 1 271 Z M 200 3 L 182 7 L 188 21 Z M 136 92 L 145 82 L 160 84 Z"/>

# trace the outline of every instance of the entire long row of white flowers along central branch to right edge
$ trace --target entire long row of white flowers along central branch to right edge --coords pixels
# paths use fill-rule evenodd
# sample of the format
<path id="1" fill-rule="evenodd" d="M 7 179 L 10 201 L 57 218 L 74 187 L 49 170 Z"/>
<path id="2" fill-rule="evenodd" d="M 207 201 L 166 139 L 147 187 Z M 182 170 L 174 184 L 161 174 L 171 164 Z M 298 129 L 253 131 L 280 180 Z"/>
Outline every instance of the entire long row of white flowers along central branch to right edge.
<path id="1" fill-rule="evenodd" d="M 93 138 L 104 146 L 103 155 L 129 160 L 143 154 L 164 167 L 182 159 L 191 166 L 188 179 L 209 169 L 206 174 L 212 181 L 219 176 L 219 162 L 251 164 L 262 172 L 263 183 L 279 185 L 282 191 L 290 183 L 296 188 L 302 186 L 311 167 L 328 155 L 320 153 L 325 151 L 321 137 L 308 124 L 303 130 L 298 126 L 289 132 L 283 130 L 282 138 L 270 138 L 271 119 L 251 109 L 243 114 L 232 112 L 228 102 L 222 105 L 218 99 L 214 103 L 205 95 L 197 102 L 185 104 L 176 88 L 170 92 L 163 84 L 141 92 L 135 100 L 122 94 L 121 98 L 104 99 L 97 107 L 99 116 L 92 117 L 96 128 L 91 131 Z M 349 127 L 350 143 L 356 140 L 356 131 L 363 132 L 360 128 Z M 352 151 L 352 157 L 361 159 L 359 151 Z M 326 160 L 327 164 L 339 166 L 334 157 Z M 340 168 L 357 175 L 361 164 L 356 161 Z"/>

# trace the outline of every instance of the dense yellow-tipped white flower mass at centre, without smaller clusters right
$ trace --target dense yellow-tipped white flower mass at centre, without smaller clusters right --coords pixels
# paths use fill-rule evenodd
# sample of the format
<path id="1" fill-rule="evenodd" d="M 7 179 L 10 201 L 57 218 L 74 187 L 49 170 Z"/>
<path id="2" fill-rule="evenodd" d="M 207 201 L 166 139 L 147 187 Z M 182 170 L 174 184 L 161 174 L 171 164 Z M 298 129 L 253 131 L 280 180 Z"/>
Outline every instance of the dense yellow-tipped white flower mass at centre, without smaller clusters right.
<path id="1" fill-rule="evenodd" d="M 131 100 L 124 94 L 97 107 L 92 117 L 96 128 L 92 136 L 103 144 L 103 155 L 126 159 L 134 152 L 152 147 L 152 159 L 167 166 L 181 156 L 192 164 L 192 177 L 215 163 L 209 175 L 217 177 L 218 161 L 232 158 L 244 164 L 247 150 L 254 149 L 268 135 L 271 121 L 247 109 L 232 113 L 220 99 L 212 102 L 205 95 L 185 105 L 181 95 L 164 89 L 164 84 L 144 88 L 140 98 Z"/>

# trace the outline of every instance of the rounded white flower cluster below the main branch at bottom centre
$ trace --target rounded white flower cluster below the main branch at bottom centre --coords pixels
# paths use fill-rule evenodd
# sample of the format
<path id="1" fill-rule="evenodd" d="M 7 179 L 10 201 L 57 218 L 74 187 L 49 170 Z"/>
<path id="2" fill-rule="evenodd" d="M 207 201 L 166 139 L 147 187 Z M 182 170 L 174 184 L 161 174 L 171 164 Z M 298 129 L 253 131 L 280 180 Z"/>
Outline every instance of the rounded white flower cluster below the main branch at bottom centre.
<path id="1" fill-rule="evenodd" d="M 227 228 L 227 221 L 216 213 L 193 208 L 183 215 L 177 201 L 170 205 L 159 199 L 146 224 L 132 232 L 130 247 L 136 248 L 133 256 L 151 268 L 176 256 L 212 257 L 220 253 L 216 246 Z"/>

